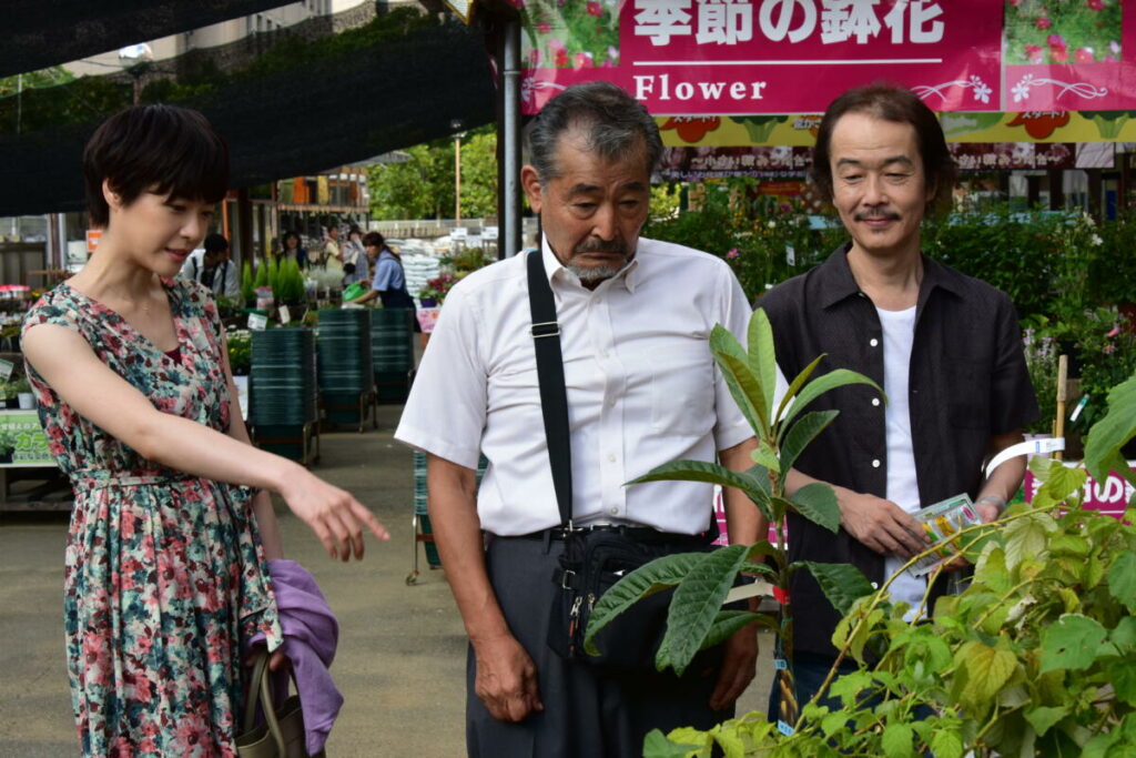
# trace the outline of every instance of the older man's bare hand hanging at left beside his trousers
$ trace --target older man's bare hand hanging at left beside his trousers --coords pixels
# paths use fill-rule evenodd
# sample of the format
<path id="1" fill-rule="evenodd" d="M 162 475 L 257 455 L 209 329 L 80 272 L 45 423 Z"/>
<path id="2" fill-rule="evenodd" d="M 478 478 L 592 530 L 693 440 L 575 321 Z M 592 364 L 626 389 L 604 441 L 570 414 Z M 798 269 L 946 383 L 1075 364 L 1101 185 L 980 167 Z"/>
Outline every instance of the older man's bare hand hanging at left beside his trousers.
<path id="1" fill-rule="evenodd" d="M 534 711 L 544 710 L 536 682 L 536 666 L 510 635 L 474 643 L 477 677 L 474 692 L 493 718 L 521 722 Z"/>

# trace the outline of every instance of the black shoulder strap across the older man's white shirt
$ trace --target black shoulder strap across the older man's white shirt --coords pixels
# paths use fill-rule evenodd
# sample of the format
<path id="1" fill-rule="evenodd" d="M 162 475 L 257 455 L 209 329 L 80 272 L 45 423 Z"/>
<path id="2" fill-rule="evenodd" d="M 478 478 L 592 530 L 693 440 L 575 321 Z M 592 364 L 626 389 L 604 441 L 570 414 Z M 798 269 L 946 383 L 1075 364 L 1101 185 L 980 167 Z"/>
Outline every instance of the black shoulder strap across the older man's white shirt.
<path id="1" fill-rule="evenodd" d="M 552 485 L 560 507 L 560 522 L 571 527 L 571 438 L 568 433 L 568 393 L 565 390 L 565 364 L 560 355 L 560 324 L 557 303 L 544 272 L 540 250 L 528 253 L 528 306 L 533 314 L 533 343 L 536 348 L 536 381 L 541 386 L 544 436 L 552 465 Z"/>

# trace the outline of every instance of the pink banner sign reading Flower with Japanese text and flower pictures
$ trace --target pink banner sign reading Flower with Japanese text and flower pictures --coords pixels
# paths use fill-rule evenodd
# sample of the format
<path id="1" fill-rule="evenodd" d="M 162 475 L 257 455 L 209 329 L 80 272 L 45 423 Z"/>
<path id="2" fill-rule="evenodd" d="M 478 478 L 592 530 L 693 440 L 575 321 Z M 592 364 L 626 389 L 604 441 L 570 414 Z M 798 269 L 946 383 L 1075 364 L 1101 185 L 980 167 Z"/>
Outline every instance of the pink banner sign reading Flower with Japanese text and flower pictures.
<path id="1" fill-rule="evenodd" d="M 967 122 L 967 140 L 991 130 L 978 141 L 1136 140 L 1124 113 L 1136 109 L 1136 7 L 1120 0 L 512 2 L 526 31 L 526 113 L 607 80 L 687 124 L 678 144 L 808 144 L 785 139 L 793 125 L 885 80 L 964 115 L 953 125 Z M 703 141 L 710 119 L 738 128 Z"/>

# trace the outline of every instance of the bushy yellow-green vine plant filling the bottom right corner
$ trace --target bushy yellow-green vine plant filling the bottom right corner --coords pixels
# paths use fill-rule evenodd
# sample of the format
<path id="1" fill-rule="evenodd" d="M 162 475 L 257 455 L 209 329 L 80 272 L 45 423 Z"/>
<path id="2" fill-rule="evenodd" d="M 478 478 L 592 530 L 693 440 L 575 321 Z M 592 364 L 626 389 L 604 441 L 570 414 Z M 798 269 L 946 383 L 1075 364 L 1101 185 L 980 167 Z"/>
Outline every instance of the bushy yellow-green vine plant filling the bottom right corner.
<path id="1" fill-rule="evenodd" d="M 1110 391 L 1086 443 L 1088 472 L 1136 484 L 1120 456 L 1134 436 L 1136 376 Z M 1133 755 L 1136 497 L 1113 518 L 1079 507 L 1083 468 L 1044 458 L 1030 468 L 1044 480 L 1031 503 L 959 533 L 958 553 L 975 564 L 961 593 L 933 614 L 925 598 L 917 623 L 891 601 L 892 580 L 851 602 L 833 642 L 859 666 L 838 678 L 834 667 L 822 689 L 840 709 L 818 695 L 787 735 L 757 713 L 708 731 L 654 732 L 645 755 Z"/>

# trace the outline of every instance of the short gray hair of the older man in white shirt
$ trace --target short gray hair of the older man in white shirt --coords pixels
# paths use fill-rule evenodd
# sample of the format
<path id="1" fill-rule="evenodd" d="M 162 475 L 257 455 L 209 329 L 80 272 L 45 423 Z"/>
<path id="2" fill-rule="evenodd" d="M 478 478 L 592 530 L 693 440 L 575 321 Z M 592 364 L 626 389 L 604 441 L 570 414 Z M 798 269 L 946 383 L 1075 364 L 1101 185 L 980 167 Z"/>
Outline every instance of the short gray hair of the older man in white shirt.
<path id="1" fill-rule="evenodd" d="M 550 100 L 528 132 L 529 160 L 542 183 L 560 175 L 557 147 L 570 130 L 604 160 L 642 156 L 649 175 L 662 155 L 659 126 L 635 98 L 610 82 L 576 84 Z"/>

